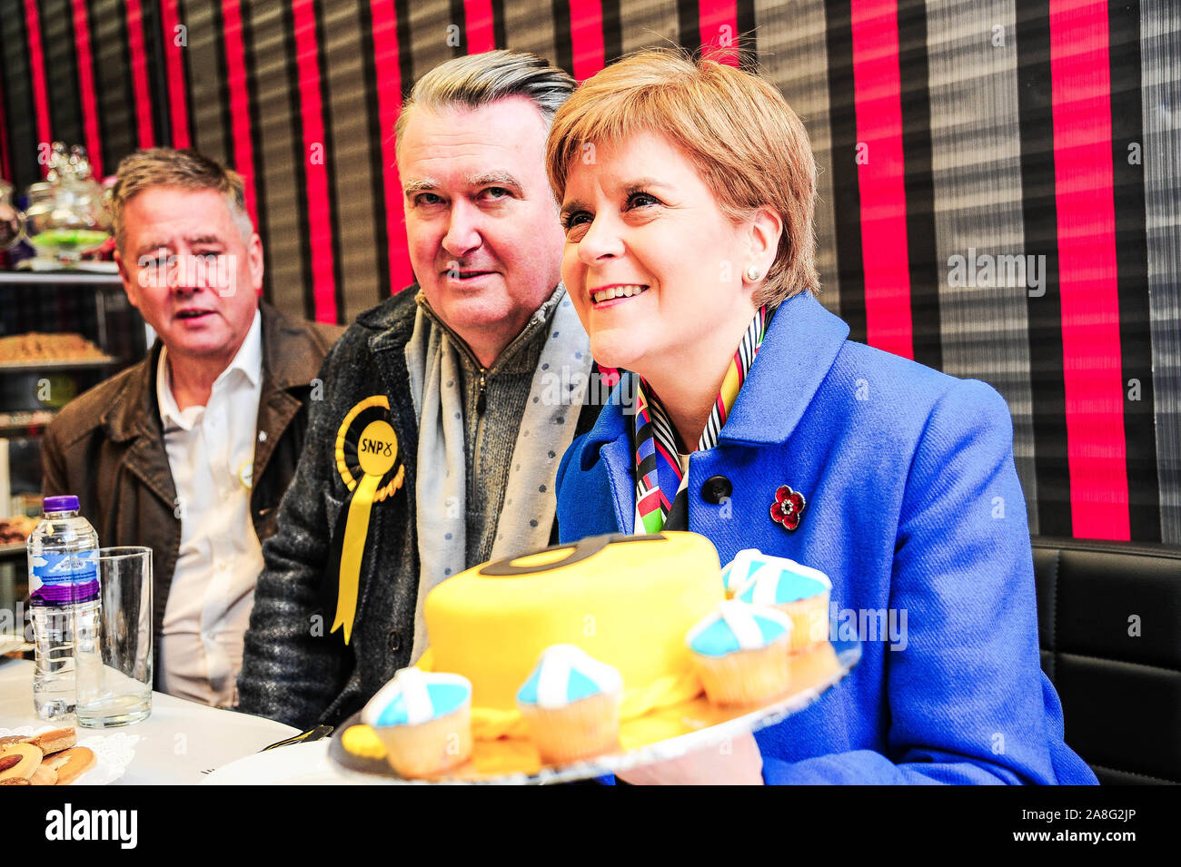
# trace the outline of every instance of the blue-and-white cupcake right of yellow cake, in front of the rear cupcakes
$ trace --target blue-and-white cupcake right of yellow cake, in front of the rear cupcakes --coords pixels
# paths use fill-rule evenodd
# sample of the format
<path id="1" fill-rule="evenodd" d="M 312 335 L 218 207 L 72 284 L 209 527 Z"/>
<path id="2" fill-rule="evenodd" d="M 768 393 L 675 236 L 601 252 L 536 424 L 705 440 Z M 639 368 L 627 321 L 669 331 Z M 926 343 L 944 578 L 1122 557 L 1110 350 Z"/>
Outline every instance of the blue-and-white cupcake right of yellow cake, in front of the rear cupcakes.
<path id="1" fill-rule="evenodd" d="M 764 704 L 791 687 L 791 618 L 774 607 L 727 600 L 685 643 L 715 704 Z"/>

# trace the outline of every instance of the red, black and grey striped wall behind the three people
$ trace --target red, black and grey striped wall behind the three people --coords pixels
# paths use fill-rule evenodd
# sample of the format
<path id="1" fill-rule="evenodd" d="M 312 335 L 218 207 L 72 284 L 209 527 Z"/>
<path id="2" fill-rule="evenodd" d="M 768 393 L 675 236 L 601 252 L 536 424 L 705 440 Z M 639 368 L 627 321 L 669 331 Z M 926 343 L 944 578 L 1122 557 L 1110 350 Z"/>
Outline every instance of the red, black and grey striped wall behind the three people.
<path id="1" fill-rule="evenodd" d="M 0 0 L 0 175 L 56 138 L 104 171 L 205 151 L 248 180 L 267 296 L 338 322 L 411 280 L 391 133 L 423 72 L 742 48 L 808 125 L 853 337 L 1005 395 L 1035 532 L 1181 544 L 1169 0 Z"/>

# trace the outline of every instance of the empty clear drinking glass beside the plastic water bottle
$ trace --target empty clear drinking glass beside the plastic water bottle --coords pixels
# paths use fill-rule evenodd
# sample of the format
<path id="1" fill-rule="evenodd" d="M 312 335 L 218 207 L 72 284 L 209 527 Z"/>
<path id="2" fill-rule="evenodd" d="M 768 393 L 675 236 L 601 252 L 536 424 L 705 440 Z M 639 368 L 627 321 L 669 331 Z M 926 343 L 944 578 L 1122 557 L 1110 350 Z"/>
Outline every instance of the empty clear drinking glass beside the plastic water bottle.
<path id="1" fill-rule="evenodd" d="M 151 549 L 98 551 L 100 605 L 76 624 L 78 724 L 105 729 L 151 714 Z"/>

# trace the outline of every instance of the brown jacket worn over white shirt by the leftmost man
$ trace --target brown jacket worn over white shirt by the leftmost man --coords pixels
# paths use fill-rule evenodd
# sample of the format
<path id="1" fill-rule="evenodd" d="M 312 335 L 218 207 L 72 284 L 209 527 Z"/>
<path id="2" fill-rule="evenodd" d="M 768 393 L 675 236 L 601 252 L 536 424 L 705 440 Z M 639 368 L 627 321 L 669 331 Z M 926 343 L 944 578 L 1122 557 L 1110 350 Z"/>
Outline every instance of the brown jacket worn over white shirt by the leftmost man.
<path id="1" fill-rule="evenodd" d="M 262 393 L 250 517 L 259 541 L 265 541 L 275 532 L 279 501 L 304 449 L 312 380 L 344 329 L 291 318 L 265 302 L 260 309 Z M 66 405 L 41 444 L 46 497 L 77 494 L 83 517 L 104 547 L 152 549 L 157 649 L 181 547 L 180 508 L 156 400 L 159 348 L 157 340 L 144 361 Z M 156 671 L 158 677 L 158 665 Z"/>

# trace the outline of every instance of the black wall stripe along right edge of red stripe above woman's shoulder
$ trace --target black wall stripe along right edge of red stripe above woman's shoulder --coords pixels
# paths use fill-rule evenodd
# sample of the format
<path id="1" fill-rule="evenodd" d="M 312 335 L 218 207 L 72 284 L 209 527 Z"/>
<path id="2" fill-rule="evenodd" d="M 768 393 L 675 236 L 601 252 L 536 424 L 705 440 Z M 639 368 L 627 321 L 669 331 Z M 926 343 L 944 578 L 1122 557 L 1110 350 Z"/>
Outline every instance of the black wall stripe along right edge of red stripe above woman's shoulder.
<path id="1" fill-rule="evenodd" d="M 898 34 L 906 248 L 911 271 L 911 340 L 914 360 L 941 370 L 944 353 L 939 317 L 939 252 L 935 249 L 935 185 L 931 169 L 931 91 L 925 0 L 899 0 Z"/>

